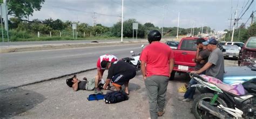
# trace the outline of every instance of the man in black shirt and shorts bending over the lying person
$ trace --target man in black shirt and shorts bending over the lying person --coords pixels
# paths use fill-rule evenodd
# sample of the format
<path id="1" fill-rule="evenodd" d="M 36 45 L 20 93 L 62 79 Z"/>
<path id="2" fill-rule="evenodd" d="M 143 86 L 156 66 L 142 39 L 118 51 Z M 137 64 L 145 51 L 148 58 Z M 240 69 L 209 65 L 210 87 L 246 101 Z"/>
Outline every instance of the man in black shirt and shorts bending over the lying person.
<path id="1" fill-rule="evenodd" d="M 112 81 L 112 85 L 116 90 L 121 90 L 122 85 L 124 85 L 125 93 L 129 95 L 129 81 L 136 75 L 136 69 L 122 60 L 115 62 L 102 61 L 100 65 L 109 70 L 103 89 L 107 89 L 107 85 Z"/>

